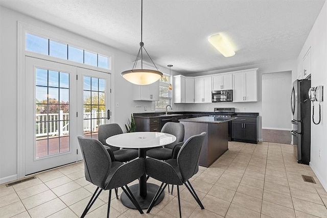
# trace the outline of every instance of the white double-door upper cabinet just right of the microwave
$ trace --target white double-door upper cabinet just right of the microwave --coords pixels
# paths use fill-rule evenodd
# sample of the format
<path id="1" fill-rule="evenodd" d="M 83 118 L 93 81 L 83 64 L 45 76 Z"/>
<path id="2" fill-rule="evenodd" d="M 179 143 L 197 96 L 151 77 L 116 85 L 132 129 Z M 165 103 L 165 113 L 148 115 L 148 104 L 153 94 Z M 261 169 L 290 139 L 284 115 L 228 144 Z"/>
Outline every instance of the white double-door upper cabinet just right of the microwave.
<path id="1" fill-rule="evenodd" d="M 256 70 L 235 72 L 233 78 L 233 102 L 258 101 Z"/>

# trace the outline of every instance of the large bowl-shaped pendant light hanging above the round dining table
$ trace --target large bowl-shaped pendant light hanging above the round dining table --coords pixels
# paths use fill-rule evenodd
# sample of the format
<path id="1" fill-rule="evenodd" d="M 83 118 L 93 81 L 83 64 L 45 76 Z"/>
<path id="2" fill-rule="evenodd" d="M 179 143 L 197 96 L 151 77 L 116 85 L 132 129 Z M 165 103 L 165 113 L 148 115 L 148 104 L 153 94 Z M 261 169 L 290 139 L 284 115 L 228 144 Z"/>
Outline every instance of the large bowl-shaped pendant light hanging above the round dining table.
<path id="1" fill-rule="evenodd" d="M 142 27 L 143 27 L 143 0 L 141 0 L 141 42 L 139 43 L 139 50 L 136 56 L 136 60 L 134 62 L 133 68 L 129 70 L 125 70 L 121 72 L 121 75 L 127 81 L 136 84 L 136 85 L 149 85 L 159 80 L 162 77 L 162 72 L 158 70 L 156 65 L 153 63 L 150 55 L 144 47 L 144 43 L 142 41 Z M 143 50 L 147 53 L 150 58 L 152 64 L 155 66 L 157 70 L 153 69 L 143 69 Z M 141 69 L 135 69 L 137 60 L 141 53 Z"/>

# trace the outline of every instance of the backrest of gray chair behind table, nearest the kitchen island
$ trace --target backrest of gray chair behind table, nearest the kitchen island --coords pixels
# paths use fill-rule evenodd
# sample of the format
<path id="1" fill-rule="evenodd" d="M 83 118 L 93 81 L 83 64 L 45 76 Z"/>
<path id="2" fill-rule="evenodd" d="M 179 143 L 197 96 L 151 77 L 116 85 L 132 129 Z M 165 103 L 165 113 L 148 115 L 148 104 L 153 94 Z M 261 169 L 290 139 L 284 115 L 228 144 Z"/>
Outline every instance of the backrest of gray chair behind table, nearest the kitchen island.
<path id="1" fill-rule="evenodd" d="M 175 144 L 184 140 L 185 130 L 184 125 L 181 123 L 168 122 L 162 127 L 161 132 L 176 136 L 176 141 L 171 144 L 167 144 L 165 148 L 173 149 Z"/>

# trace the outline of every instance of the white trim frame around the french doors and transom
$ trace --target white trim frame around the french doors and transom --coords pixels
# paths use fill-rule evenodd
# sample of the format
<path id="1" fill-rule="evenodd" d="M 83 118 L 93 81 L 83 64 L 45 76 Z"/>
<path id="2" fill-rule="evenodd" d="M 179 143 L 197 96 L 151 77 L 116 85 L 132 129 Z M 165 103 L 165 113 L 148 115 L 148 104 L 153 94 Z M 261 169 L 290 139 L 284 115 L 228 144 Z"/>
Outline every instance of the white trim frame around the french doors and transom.
<path id="1" fill-rule="evenodd" d="M 90 51 L 92 50 L 97 50 L 101 52 L 102 54 L 107 54 L 110 57 L 110 64 L 111 67 L 108 70 L 102 69 L 105 72 L 111 74 L 111 102 L 110 102 L 110 108 L 112 111 L 112 116 L 111 116 L 111 123 L 114 123 L 114 55 L 108 50 L 103 49 L 103 47 L 99 46 L 90 46 L 90 43 L 83 43 L 80 41 L 76 41 L 73 38 L 68 38 L 64 37 L 62 35 L 58 35 L 57 32 L 54 31 L 56 27 L 54 26 L 43 26 L 41 28 L 28 25 L 27 23 L 17 21 L 17 174 L 11 176 L 10 180 L 15 180 L 15 179 L 20 179 L 25 177 L 25 147 L 26 147 L 26 136 L 25 136 L 25 131 L 26 131 L 26 114 L 25 114 L 25 109 L 26 109 L 26 101 L 25 101 L 25 80 L 26 80 L 26 74 L 25 74 L 25 56 L 29 57 L 38 57 L 44 60 L 51 60 L 55 62 L 60 62 L 60 63 L 65 63 L 65 64 L 70 64 L 78 67 L 86 67 L 84 64 L 79 64 L 79 63 L 73 63 L 71 61 L 67 60 L 62 60 L 62 59 L 57 59 L 57 58 L 52 58 L 49 56 L 44 56 L 44 55 L 38 55 L 35 53 L 27 52 L 25 51 L 25 34 L 26 32 L 34 32 L 35 34 L 41 34 L 41 35 L 48 35 L 48 36 L 53 36 L 58 39 L 61 39 L 62 41 L 67 41 L 67 42 L 73 42 L 72 44 L 75 45 L 80 45 L 80 47 L 84 47 L 85 49 L 89 49 Z M 50 29 L 49 30 L 44 30 L 44 28 Z M 62 30 L 62 29 L 60 29 Z M 64 30 L 63 30 L 64 31 Z M 70 33 L 66 31 L 67 33 Z M 86 39 L 86 41 L 90 41 L 89 39 Z M 87 66 L 87 68 L 90 69 L 95 69 L 97 70 L 97 67 L 92 67 L 92 66 Z"/>

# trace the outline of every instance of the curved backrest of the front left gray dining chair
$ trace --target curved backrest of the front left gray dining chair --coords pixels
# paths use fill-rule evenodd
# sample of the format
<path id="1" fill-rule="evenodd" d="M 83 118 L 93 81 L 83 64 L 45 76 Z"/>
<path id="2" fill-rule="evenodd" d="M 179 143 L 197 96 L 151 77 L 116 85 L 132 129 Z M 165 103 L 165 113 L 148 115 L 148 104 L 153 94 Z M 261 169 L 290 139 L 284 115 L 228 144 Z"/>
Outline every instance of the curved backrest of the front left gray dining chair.
<path id="1" fill-rule="evenodd" d="M 104 189 L 111 167 L 111 159 L 97 139 L 77 136 L 84 159 L 85 179 Z"/>

